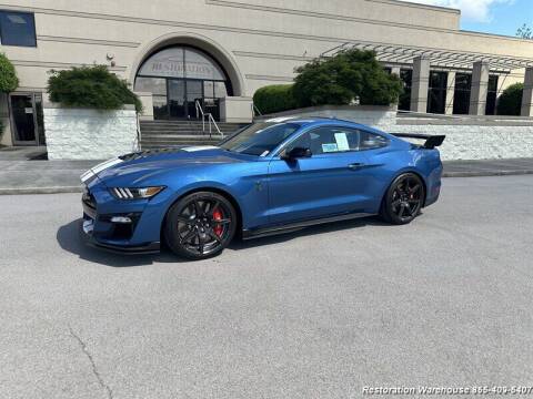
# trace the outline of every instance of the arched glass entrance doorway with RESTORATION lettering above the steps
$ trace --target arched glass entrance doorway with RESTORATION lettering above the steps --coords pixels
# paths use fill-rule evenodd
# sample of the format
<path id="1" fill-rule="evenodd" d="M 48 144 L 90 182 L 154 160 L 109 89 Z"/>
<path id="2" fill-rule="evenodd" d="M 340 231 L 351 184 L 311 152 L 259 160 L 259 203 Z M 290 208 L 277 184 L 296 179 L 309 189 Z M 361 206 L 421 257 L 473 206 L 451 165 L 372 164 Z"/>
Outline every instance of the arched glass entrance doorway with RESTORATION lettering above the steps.
<path id="1" fill-rule="evenodd" d="M 197 119 L 197 102 L 219 120 L 220 99 L 233 95 L 220 63 L 189 45 L 168 47 L 150 55 L 137 72 L 134 90 L 152 93 L 157 120 Z"/>

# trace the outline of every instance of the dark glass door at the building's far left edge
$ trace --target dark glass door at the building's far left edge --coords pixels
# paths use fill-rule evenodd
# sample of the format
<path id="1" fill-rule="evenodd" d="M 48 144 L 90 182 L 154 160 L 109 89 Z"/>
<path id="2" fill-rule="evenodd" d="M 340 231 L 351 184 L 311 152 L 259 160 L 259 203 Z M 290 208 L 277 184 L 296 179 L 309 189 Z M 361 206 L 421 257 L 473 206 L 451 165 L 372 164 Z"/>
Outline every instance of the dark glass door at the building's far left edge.
<path id="1" fill-rule="evenodd" d="M 38 145 L 34 94 L 10 94 L 13 144 Z"/>

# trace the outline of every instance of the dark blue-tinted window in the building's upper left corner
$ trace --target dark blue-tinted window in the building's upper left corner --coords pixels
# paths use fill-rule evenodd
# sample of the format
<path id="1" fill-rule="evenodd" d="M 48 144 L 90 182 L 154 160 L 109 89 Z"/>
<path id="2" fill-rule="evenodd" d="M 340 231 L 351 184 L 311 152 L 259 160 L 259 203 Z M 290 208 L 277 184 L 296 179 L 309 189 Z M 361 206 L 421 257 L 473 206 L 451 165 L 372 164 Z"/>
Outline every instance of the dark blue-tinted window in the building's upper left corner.
<path id="1" fill-rule="evenodd" d="M 2 45 L 37 47 L 33 14 L 0 11 L 0 37 Z"/>

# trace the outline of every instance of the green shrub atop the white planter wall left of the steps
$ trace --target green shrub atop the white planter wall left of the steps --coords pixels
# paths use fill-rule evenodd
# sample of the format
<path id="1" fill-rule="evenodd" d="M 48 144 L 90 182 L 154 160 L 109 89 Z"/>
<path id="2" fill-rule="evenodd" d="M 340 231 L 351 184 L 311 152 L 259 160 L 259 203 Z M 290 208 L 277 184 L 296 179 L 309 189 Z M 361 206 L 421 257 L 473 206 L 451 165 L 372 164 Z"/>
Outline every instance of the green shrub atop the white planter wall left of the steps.
<path id="1" fill-rule="evenodd" d="M 133 104 L 137 112 L 142 111 L 141 101 L 128 83 L 109 72 L 105 65 L 52 70 L 50 73 L 48 93 L 52 102 L 97 110 L 118 110 Z"/>

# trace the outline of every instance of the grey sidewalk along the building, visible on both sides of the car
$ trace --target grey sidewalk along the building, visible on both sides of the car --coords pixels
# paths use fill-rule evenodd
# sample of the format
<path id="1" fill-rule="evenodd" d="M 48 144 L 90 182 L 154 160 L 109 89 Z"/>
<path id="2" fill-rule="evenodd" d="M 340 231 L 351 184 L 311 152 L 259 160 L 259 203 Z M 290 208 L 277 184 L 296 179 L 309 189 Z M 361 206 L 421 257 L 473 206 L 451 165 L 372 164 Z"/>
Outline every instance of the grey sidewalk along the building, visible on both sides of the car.
<path id="1" fill-rule="evenodd" d="M 0 195 L 81 192 L 80 175 L 101 161 L 0 161 Z M 533 174 L 533 157 L 446 161 L 444 177 Z"/>

